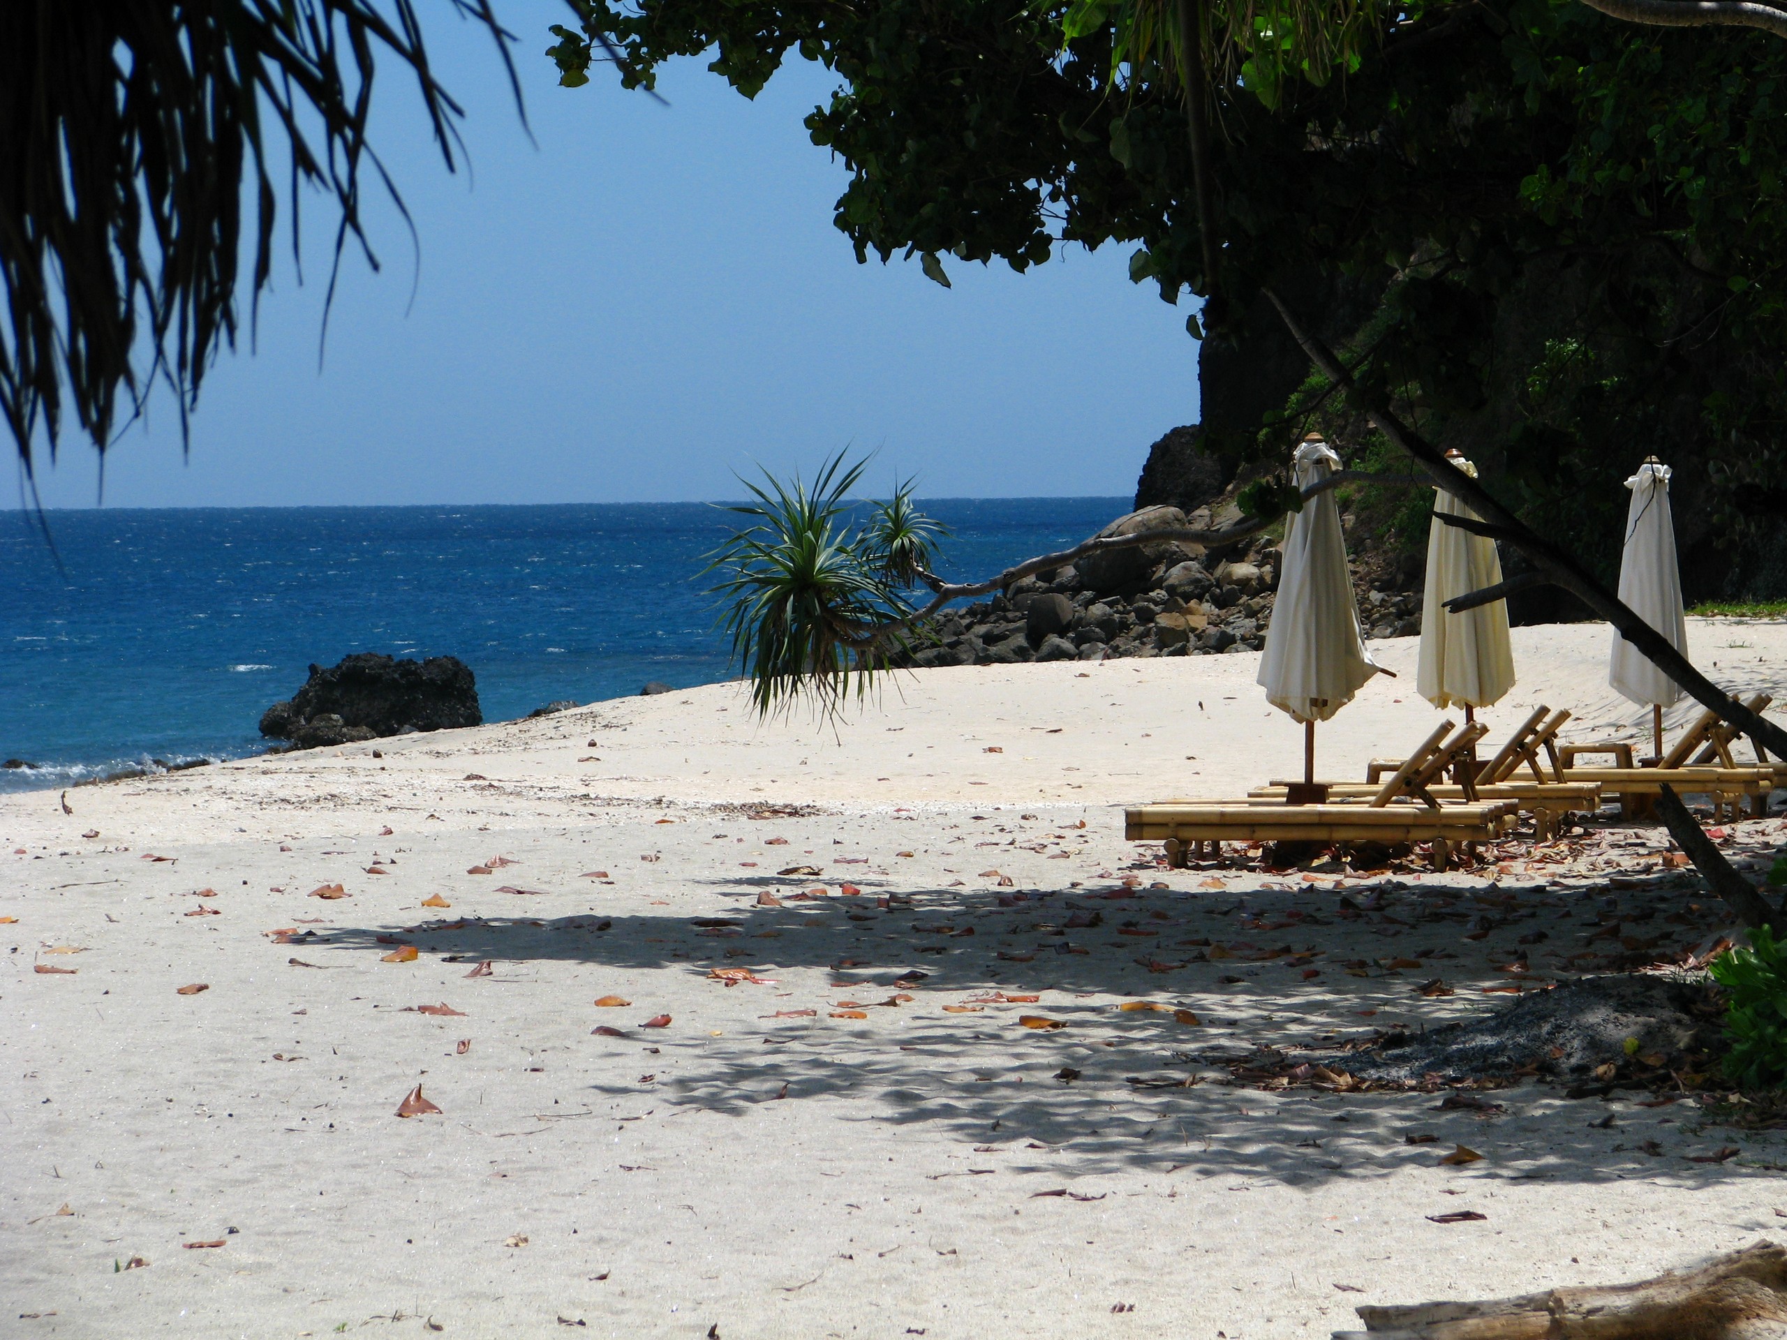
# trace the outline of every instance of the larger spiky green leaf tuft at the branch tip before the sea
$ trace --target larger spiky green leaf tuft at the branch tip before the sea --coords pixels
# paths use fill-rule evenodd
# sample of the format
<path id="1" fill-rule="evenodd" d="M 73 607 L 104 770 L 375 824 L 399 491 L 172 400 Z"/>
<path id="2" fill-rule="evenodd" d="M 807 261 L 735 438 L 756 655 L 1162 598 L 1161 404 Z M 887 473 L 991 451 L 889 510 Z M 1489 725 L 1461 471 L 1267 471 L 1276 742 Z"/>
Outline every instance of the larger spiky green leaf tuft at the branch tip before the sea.
<path id="1" fill-rule="evenodd" d="M 906 647 L 911 613 L 885 552 L 854 525 L 851 490 L 867 461 L 826 461 L 811 484 L 742 481 L 754 502 L 729 507 L 752 523 L 708 556 L 733 657 L 765 716 L 810 699 L 833 716 Z"/>

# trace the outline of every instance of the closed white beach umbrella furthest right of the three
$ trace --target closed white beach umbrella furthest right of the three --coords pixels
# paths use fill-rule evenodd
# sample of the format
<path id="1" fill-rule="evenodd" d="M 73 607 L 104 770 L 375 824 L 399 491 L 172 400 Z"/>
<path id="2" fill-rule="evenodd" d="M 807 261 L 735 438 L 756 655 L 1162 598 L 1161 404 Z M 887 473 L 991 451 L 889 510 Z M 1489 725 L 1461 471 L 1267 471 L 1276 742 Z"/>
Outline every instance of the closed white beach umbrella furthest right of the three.
<path id="1" fill-rule="evenodd" d="M 1682 570 L 1674 554 L 1674 516 L 1669 511 L 1671 470 L 1646 456 L 1626 481 L 1626 545 L 1619 556 L 1619 599 L 1687 656 L 1687 620 L 1682 616 Z M 1633 702 L 1651 708 L 1657 756 L 1664 754 L 1664 708 L 1682 699 L 1682 686 L 1658 670 L 1637 647 L 1614 632 L 1607 683 Z"/>

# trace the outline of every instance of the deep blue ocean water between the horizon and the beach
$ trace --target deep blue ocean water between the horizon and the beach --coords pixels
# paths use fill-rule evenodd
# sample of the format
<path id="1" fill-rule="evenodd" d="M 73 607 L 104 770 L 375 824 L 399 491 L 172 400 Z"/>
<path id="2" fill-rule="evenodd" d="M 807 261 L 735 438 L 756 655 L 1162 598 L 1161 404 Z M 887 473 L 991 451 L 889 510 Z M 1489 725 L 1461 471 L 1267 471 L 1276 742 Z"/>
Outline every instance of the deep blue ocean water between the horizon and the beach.
<path id="1" fill-rule="evenodd" d="M 1063 549 L 1126 498 L 931 498 L 944 575 Z M 313 661 L 457 656 L 486 720 L 726 679 L 708 504 L 0 515 L 0 790 L 266 747 Z"/>

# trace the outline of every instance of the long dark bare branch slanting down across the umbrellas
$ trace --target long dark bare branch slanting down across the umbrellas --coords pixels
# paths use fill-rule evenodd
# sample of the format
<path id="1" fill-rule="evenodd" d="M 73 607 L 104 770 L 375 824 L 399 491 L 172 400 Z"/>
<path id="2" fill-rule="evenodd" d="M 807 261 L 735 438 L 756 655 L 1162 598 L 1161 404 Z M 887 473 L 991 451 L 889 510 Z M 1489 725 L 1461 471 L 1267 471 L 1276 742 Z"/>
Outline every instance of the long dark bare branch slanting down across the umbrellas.
<path id="1" fill-rule="evenodd" d="M 1590 574 L 1581 563 L 1558 545 L 1553 545 L 1549 540 L 1533 532 L 1519 516 L 1508 511 L 1494 493 L 1447 461 L 1446 454 L 1440 452 L 1439 447 L 1403 423 L 1403 420 L 1390 409 L 1381 391 L 1360 386 L 1335 352 L 1328 348 L 1319 336 L 1306 331 L 1296 314 L 1292 314 L 1290 307 L 1287 307 L 1272 289 L 1262 291 L 1267 298 L 1271 298 L 1272 306 L 1278 307 L 1279 318 L 1285 322 L 1285 327 L 1296 341 L 1303 345 L 1303 352 L 1310 356 L 1310 363 L 1313 363 L 1324 377 L 1344 386 L 1353 402 L 1358 404 L 1371 418 L 1372 425 L 1408 457 L 1412 457 L 1422 470 L 1426 470 L 1439 488 L 1464 502 L 1471 511 L 1485 518 L 1489 525 L 1499 527 L 1505 534 L 1498 538 L 1521 550 L 1531 561 L 1533 568 L 1537 568 L 1539 575 L 1553 586 L 1562 586 L 1565 591 L 1589 606 L 1589 609 L 1612 624 L 1619 631 L 1619 636 L 1637 647 L 1640 656 L 1649 659 L 1658 670 L 1685 688 L 1698 702 L 1705 704 L 1723 720 L 1730 722 L 1751 740 L 1764 745 L 1776 758 L 1787 758 L 1787 731 L 1760 713 L 1751 711 L 1696 670 L 1692 661 L 1678 652 L 1657 629 L 1639 618 L 1639 615 L 1633 613 L 1633 609 L 1617 595 L 1596 581 L 1594 574 Z M 1456 522 L 1460 518 L 1447 520 Z"/>

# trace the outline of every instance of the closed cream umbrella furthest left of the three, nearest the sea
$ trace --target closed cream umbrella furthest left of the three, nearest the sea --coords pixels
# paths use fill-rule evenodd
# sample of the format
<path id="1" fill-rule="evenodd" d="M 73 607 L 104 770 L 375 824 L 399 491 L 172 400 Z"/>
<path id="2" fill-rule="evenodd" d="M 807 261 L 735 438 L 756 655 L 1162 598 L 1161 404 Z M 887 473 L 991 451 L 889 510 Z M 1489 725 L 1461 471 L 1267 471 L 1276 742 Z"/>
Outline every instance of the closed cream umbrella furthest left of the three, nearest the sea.
<path id="1" fill-rule="evenodd" d="M 1297 488 L 1326 479 L 1340 457 L 1317 434 L 1297 447 Z M 1315 781 L 1315 722 L 1340 711 L 1380 666 L 1365 654 L 1365 636 L 1346 568 L 1346 538 L 1333 490 L 1285 516 L 1283 563 L 1272 624 L 1265 634 L 1258 683 L 1265 700 L 1305 724 L 1303 781 Z"/>

